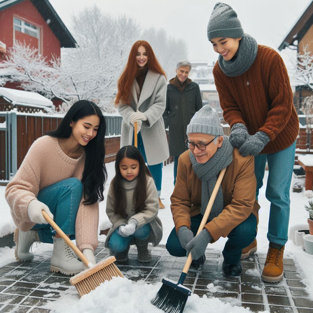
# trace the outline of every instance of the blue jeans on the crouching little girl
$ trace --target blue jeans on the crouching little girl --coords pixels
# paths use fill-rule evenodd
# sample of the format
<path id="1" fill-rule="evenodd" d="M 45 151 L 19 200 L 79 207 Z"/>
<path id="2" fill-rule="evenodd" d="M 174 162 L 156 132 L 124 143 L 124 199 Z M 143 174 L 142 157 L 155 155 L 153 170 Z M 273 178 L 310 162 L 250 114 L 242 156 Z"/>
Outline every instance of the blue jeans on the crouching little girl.
<path id="1" fill-rule="evenodd" d="M 137 228 L 135 233 L 128 237 L 123 237 L 118 234 L 118 228 L 112 233 L 110 240 L 109 240 L 109 248 L 115 252 L 123 252 L 127 249 L 128 244 L 131 242 L 131 239 L 138 238 L 138 239 L 147 239 L 151 232 L 151 226 L 149 223 L 143 225 L 140 228 Z"/>

